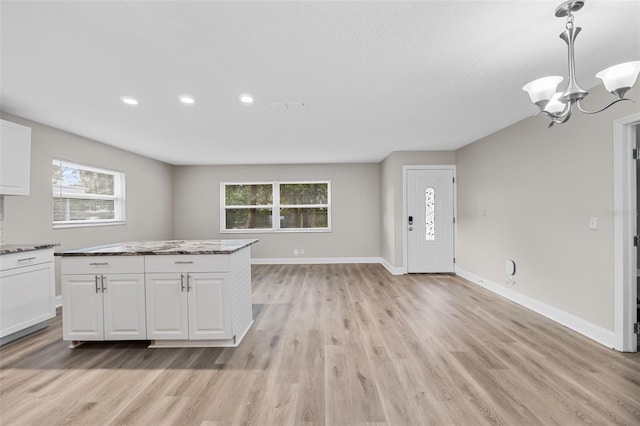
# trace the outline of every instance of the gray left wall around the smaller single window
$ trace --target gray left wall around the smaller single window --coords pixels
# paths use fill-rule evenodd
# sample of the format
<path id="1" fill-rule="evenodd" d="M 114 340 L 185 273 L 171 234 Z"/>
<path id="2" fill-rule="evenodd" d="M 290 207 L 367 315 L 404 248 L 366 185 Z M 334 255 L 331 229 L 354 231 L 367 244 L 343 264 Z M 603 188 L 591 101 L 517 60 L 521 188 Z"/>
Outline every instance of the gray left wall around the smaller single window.
<path id="1" fill-rule="evenodd" d="M 173 235 L 173 170 L 168 164 L 10 114 L 31 127 L 31 195 L 4 197 L 5 243 L 59 243 L 56 251 Z M 51 160 L 59 158 L 126 173 L 126 224 L 52 228 Z M 56 262 L 59 273 L 59 262 Z M 56 294 L 60 293 L 59 279 Z"/>

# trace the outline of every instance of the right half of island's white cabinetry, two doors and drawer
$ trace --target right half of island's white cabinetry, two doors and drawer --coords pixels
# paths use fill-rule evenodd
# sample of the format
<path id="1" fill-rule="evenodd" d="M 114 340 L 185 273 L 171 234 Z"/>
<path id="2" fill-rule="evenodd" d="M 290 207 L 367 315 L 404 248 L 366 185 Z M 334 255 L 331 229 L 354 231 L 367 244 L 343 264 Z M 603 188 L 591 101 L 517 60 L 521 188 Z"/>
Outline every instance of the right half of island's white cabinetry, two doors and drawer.
<path id="1" fill-rule="evenodd" d="M 219 340 L 231 335 L 228 256 L 156 256 L 146 262 L 147 336 Z M 215 264 L 213 264 L 215 263 Z M 218 269 L 220 272 L 194 272 Z"/>

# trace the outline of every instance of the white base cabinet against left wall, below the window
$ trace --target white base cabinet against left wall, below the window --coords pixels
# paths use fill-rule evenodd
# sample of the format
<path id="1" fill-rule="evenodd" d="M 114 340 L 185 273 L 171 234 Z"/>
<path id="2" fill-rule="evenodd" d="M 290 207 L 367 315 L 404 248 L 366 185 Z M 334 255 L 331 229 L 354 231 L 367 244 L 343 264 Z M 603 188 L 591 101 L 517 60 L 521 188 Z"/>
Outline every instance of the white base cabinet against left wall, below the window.
<path id="1" fill-rule="evenodd" d="M 56 316 L 53 249 L 0 256 L 0 338 L 3 343 Z M 35 331 L 36 328 L 32 328 Z"/>

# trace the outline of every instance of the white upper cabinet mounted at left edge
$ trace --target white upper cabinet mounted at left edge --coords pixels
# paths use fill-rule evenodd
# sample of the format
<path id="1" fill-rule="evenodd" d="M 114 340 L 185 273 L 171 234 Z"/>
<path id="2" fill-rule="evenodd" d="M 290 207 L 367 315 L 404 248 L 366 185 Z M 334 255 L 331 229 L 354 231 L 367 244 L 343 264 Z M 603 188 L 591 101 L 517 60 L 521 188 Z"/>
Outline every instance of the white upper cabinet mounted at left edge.
<path id="1" fill-rule="evenodd" d="M 31 128 L 0 121 L 0 195 L 29 195 Z"/>

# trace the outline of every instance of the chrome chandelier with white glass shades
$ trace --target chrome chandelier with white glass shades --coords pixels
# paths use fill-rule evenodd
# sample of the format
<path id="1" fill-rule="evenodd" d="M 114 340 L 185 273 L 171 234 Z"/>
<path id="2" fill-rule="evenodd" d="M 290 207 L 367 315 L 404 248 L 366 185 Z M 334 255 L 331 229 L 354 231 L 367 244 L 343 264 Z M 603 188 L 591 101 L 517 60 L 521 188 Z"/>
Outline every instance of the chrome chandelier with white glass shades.
<path id="1" fill-rule="evenodd" d="M 567 17 L 566 29 L 560 34 L 560 38 L 567 43 L 569 50 L 569 83 L 567 88 L 563 92 L 556 92 L 563 78 L 555 75 L 539 78 L 527 83 L 522 88 L 522 90 L 529 93 L 531 101 L 540 108 L 537 114 L 543 112 L 551 118 L 549 127 L 555 123 L 562 124 L 567 122 L 571 117 L 574 106 L 585 114 L 596 114 L 620 101 L 631 101 L 631 99 L 625 98 L 624 95 L 635 84 L 640 72 L 640 61 L 625 62 L 600 71 L 596 74 L 596 77 L 602 80 L 605 89 L 616 96 L 617 99 L 596 111 L 587 111 L 582 108 L 580 101 L 589 92 L 580 88 L 576 82 L 576 64 L 573 52 L 576 37 L 582 30 L 582 28 L 573 25 L 573 12 L 582 9 L 582 6 L 584 6 L 584 1 L 565 1 L 556 8 L 556 17 Z"/>

